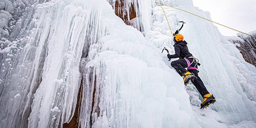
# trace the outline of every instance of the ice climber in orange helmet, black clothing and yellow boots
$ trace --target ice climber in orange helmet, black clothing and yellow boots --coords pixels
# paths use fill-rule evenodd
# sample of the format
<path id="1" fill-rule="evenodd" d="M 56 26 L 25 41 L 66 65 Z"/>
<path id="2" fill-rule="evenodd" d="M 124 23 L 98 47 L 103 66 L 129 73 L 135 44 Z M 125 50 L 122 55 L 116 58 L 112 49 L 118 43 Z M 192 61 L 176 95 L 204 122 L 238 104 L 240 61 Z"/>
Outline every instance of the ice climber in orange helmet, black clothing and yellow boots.
<path id="1" fill-rule="evenodd" d="M 198 92 L 203 97 L 201 108 L 206 108 L 210 104 L 215 102 L 215 97 L 207 91 L 203 81 L 198 76 L 197 68 L 198 65 L 200 66 L 200 64 L 198 63 L 198 59 L 194 58 L 194 56 L 189 52 L 186 41 L 183 41 L 183 35 L 176 33 L 177 32 L 175 32 L 173 38 L 175 42 L 175 54 L 170 55 L 168 53 L 167 57 L 169 59 L 180 58 L 179 60 L 172 61 L 172 67 L 175 68 L 180 76 L 183 76 L 183 81 L 185 85 L 187 85 L 189 81 L 191 81 L 192 84 L 195 85 Z M 187 68 L 187 70 L 185 68 Z"/>

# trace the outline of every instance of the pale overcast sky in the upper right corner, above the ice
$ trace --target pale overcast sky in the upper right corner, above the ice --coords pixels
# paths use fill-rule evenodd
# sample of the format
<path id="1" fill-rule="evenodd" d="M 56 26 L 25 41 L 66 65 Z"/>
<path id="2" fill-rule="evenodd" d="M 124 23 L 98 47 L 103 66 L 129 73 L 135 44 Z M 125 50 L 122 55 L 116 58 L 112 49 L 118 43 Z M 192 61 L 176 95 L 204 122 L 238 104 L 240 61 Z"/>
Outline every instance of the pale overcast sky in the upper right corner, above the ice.
<path id="1" fill-rule="evenodd" d="M 256 0 L 193 0 L 195 7 L 210 12 L 212 21 L 241 32 L 256 30 Z M 236 36 L 232 29 L 215 24 L 222 35 Z"/>

